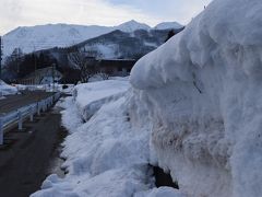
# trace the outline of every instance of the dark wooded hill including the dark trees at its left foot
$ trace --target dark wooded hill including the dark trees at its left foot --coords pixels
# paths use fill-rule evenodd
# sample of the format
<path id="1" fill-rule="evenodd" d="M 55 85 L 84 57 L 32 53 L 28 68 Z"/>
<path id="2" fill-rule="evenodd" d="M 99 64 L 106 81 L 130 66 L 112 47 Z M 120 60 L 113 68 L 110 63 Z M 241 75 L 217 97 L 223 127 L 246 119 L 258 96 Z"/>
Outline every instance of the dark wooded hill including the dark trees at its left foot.
<path id="1" fill-rule="evenodd" d="M 175 33 L 180 31 L 182 28 L 175 31 Z M 70 54 L 81 53 L 85 57 L 96 59 L 138 60 L 160 46 L 166 40 L 168 33 L 169 30 L 136 30 L 131 33 L 116 30 L 70 47 L 52 47 L 26 54 L 20 58 L 20 62 L 12 56 L 8 58 L 3 76 L 5 80 L 15 80 L 34 71 L 35 67 L 40 69 L 55 63 L 67 76 L 67 80 L 75 80 L 78 71 L 70 61 Z M 20 67 L 19 73 L 17 65 Z"/>

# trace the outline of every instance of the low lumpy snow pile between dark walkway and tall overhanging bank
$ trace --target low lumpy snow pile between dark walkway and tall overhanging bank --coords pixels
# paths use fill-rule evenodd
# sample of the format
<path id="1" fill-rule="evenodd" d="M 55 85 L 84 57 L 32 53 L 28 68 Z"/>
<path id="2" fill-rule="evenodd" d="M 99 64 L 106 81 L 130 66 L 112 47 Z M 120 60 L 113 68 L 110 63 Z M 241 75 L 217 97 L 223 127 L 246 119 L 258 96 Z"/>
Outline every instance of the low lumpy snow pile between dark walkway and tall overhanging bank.
<path id="1" fill-rule="evenodd" d="M 157 197 L 162 193 L 181 197 L 170 188 L 150 190 L 154 187 L 150 131 L 132 127 L 128 89 L 127 80 L 81 84 L 73 99 L 59 104 L 66 107 L 62 123 L 71 134 L 62 152 L 68 174 L 64 178 L 50 175 L 33 197 Z M 100 107 L 84 123 L 83 108 L 94 102 Z"/>

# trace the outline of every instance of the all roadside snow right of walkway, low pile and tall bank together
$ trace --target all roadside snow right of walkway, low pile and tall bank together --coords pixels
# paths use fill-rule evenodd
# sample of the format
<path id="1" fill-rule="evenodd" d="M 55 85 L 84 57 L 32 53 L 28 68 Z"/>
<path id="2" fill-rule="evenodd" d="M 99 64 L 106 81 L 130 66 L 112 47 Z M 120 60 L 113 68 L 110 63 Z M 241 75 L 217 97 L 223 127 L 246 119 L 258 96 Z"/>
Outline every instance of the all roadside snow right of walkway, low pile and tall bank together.
<path id="1" fill-rule="evenodd" d="M 262 196 L 262 3 L 214 0 L 132 69 L 63 102 L 66 178 L 33 196 Z M 119 90 L 119 91 L 117 91 Z M 155 188 L 148 163 L 179 190 Z"/>

